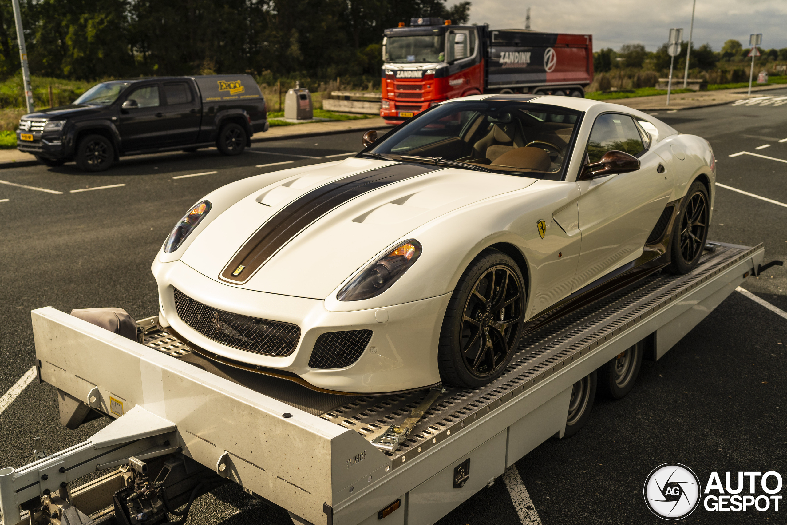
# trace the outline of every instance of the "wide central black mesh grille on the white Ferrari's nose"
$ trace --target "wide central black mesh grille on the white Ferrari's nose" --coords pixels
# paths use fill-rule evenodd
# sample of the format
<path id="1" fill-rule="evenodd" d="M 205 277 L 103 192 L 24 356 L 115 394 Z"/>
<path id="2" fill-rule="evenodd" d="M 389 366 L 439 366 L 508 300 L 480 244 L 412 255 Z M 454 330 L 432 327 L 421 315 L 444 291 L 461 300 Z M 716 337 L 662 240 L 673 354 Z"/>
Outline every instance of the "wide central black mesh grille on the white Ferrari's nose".
<path id="1" fill-rule="evenodd" d="M 195 301 L 177 288 L 173 290 L 180 319 L 201 335 L 223 345 L 283 357 L 293 353 L 301 338 L 301 328 L 295 324 L 224 312 Z"/>

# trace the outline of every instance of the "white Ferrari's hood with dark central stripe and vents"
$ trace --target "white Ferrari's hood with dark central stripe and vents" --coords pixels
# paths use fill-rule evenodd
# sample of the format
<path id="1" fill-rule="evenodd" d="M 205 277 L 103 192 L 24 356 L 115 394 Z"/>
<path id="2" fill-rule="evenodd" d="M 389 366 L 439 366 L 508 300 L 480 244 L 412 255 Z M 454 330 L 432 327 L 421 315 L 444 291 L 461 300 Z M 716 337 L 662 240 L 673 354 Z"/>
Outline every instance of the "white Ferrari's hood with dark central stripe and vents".
<path id="1" fill-rule="evenodd" d="M 316 165 L 229 207 L 191 242 L 182 261 L 230 286 L 324 299 L 417 227 L 534 182 L 358 158 Z"/>

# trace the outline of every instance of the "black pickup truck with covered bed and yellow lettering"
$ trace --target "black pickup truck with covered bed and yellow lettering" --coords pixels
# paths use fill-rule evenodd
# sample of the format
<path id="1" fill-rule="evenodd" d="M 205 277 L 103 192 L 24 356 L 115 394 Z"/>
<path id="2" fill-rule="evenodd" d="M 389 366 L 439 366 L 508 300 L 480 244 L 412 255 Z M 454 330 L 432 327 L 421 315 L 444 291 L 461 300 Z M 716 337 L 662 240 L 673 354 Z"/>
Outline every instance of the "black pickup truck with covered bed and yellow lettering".
<path id="1" fill-rule="evenodd" d="M 216 146 L 238 155 L 268 131 L 268 111 L 249 75 L 110 80 L 70 105 L 22 116 L 17 149 L 49 166 L 76 161 L 88 172 L 120 156 Z"/>

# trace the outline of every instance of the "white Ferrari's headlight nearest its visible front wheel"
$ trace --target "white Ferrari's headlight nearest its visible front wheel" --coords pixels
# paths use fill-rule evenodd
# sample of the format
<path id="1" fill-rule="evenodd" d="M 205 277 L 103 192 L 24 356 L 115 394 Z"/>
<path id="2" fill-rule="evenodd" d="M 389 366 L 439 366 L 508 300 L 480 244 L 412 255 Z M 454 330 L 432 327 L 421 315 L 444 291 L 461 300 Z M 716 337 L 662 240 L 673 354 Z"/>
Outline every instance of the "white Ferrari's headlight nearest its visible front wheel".
<path id="1" fill-rule="evenodd" d="M 382 294 L 397 282 L 421 254 L 421 244 L 411 238 L 364 268 L 339 291 L 339 301 L 360 301 Z"/>

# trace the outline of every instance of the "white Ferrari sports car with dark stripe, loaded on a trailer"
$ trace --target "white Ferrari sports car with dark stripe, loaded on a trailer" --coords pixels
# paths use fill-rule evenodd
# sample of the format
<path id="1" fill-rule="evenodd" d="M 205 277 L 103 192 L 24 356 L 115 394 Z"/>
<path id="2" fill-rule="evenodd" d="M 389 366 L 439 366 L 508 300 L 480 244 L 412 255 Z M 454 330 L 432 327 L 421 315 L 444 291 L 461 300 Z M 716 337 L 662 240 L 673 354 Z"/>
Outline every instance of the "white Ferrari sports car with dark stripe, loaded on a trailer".
<path id="1" fill-rule="evenodd" d="M 478 387 L 523 333 L 704 250 L 710 145 L 622 105 L 458 98 L 364 146 L 194 204 L 153 262 L 161 326 L 316 390 Z"/>

